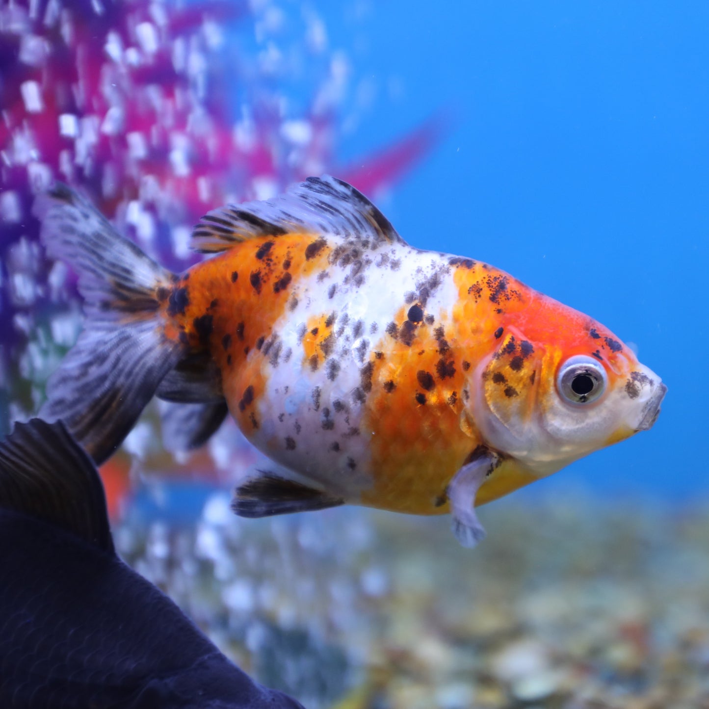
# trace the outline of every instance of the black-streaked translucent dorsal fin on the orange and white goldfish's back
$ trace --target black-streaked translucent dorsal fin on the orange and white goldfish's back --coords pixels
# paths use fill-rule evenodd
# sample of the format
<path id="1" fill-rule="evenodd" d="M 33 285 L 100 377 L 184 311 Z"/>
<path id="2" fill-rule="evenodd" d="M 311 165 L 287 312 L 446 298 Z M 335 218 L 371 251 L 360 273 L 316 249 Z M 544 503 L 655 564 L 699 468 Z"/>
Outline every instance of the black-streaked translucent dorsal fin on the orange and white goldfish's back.
<path id="1" fill-rule="evenodd" d="M 226 251 L 247 239 L 298 232 L 405 243 L 367 197 L 347 182 L 325 175 L 308 177 L 274 199 L 214 209 L 194 228 L 192 248 L 202 253 Z"/>

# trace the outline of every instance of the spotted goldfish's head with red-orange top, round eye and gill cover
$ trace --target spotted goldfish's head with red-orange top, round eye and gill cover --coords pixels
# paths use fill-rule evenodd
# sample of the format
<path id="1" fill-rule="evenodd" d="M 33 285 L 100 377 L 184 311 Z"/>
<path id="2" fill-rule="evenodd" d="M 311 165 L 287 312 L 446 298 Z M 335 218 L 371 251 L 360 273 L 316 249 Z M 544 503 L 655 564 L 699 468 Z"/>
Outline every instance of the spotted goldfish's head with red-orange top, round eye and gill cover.
<path id="1" fill-rule="evenodd" d="M 486 445 L 535 477 L 647 430 L 666 392 L 613 333 L 545 296 L 473 376 L 468 413 Z"/>

